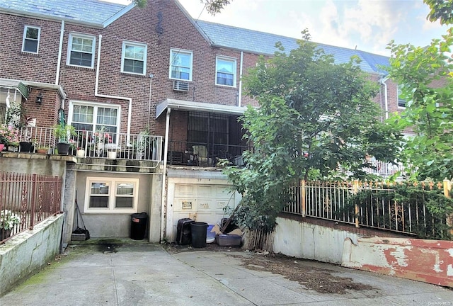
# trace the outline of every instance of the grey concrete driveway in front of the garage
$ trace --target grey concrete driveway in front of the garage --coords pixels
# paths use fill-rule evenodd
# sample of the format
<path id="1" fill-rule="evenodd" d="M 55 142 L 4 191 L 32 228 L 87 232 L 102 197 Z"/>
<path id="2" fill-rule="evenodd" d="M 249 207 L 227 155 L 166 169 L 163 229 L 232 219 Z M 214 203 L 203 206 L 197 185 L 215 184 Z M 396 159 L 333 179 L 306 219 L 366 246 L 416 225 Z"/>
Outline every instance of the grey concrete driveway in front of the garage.
<path id="1" fill-rule="evenodd" d="M 239 266 L 242 251 L 168 254 L 158 244 L 69 246 L 69 254 L 0 297 L 0 305 L 452 305 L 453 290 L 314 262 L 376 290 L 316 293 Z"/>

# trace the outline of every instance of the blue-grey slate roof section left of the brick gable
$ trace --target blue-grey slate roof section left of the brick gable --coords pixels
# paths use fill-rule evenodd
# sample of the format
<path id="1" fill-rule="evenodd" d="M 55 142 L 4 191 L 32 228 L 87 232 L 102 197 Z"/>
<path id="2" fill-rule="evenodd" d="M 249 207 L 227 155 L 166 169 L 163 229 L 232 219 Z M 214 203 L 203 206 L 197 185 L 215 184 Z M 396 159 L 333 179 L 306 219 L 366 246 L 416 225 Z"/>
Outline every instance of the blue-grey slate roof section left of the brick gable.
<path id="1" fill-rule="evenodd" d="M 0 8 L 101 25 L 125 6 L 97 0 L 0 0 Z"/>

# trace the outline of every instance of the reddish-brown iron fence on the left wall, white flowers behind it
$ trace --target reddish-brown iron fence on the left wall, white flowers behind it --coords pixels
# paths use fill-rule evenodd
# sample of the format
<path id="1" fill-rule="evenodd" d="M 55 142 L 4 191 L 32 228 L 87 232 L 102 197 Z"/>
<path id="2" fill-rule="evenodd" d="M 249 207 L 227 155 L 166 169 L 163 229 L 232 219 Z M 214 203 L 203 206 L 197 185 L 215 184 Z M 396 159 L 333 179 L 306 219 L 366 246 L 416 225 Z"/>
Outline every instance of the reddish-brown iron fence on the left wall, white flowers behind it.
<path id="1" fill-rule="evenodd" d="M 56 215 L 61 191 L 59 176 L 0 172 L 0 243 Z"/>

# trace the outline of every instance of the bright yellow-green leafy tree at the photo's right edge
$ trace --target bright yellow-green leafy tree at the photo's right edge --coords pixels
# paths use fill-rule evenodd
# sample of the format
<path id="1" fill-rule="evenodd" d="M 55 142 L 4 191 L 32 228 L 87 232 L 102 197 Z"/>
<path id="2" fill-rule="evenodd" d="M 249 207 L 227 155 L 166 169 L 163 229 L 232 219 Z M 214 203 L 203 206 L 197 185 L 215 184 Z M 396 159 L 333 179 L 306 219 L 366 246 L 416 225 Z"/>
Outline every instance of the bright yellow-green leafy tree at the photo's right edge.
<path id="1" fill-rule="evenodd" d="M 406 111 L 391 118 L 395 128 L 412 128 L 415 137 L 404 147 L 405 159 L 418 179 L 453 177 L 453 29 L 427 47 L 389 44 L 389 75 L 401 84 Z"/>

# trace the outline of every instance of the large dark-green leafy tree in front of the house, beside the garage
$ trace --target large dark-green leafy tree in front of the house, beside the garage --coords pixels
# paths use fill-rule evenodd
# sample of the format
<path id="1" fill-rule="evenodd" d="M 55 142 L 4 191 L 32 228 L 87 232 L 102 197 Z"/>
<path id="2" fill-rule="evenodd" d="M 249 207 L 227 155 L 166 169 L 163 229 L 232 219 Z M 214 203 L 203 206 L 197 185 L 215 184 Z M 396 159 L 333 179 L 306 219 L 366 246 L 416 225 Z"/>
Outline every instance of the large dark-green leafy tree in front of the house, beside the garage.
<path id="1" fill-rule="evenodd" d="M 246 93 L 259 103 L 241 118 L 255 151 L 245 154 L 245 168 L 225 172 L 243 194 L 236 219 L 249 228 L 272 229 L 299 179 L 332 178 L 340 168 L 363 177 L 367 155 L 394 160 L 398 135 L 379 120 L 376 82 L 358 58 L 335 64 L 304 38 L 289 53 L 277 44 L 275 55 L 261 57 L 244 77 Z"/>

